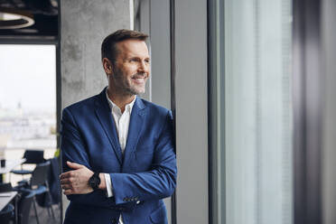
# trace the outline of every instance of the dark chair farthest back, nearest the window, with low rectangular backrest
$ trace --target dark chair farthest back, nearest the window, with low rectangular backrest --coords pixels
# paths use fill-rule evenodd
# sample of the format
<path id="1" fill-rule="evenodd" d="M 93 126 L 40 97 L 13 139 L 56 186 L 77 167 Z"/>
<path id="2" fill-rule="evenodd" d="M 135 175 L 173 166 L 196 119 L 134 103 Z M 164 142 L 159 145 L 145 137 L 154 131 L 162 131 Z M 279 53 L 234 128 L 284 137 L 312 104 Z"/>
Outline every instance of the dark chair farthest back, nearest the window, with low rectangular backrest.
<path id="1" fill-rule="evenodd" d="M 38 164 L 45 162 L 44 160 L 44 151 L 43 150 L 26 150 L 23 154 L 23 159 L 25 162 L 23 164 Z M 14 170 L 11 173 L 19 174 L 19 175 L 26 175 L 32 174 L 33 170 L 26 170 L 23 169 L 23 164 L 21 164 L 21 170 Z"/>

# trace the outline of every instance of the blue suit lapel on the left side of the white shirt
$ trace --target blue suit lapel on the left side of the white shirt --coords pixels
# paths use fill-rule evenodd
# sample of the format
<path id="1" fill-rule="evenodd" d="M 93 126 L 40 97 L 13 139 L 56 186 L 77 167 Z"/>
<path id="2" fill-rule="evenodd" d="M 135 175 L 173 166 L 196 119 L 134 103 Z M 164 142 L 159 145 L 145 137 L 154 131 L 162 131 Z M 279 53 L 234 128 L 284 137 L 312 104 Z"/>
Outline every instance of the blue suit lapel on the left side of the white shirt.
<path id="1" fill-rule="evenodd" d="M 108 141 L 112 145 L 113 150 L 117 156 L 117 160 L 122 164 L 122 154 L 120 145 L 117 139 L 117 130 L 115 121 L 111 114 L 111 108 L 108 106 L 106 98 L 106 89 L 104 89 L 100 95 L 99 99 L 96 101 L 96 116 L 100 122 L 100 125 L 103 126 L 105 134 L 107 135 Z"/>

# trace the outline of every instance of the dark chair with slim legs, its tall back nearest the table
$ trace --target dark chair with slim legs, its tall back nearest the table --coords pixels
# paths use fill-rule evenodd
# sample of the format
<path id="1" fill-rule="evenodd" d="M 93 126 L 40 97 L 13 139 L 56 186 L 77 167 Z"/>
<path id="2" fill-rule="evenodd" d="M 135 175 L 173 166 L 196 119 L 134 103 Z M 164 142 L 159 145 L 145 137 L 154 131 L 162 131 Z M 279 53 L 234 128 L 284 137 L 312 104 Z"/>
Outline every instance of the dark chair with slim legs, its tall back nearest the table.
<path id="1" fill-rule="evenodd" d="M 16 188 L 18 191 L 21 191 L 23 193 L 33 193 L 33 209 L 35 211 L 36 222 L 38 224 L 40 222 L 36 210 L 36 196 L 45 194 L 46 197 L 49 197 L 49 201 L 51 201 L 51 193 L 49 191 L 48 184 L 48 173 L 50 164 L 51 163 L 49 161 L 37 164 L 35 169 L 33 170 L 30 181 L 26 185 L 21 185 L 19 186 L 19 188 Z M 49 203 L 45 207 L 47 207 L 49 215 L 51 210 L 52 218 L 55 219 L 51 203 Z"/>

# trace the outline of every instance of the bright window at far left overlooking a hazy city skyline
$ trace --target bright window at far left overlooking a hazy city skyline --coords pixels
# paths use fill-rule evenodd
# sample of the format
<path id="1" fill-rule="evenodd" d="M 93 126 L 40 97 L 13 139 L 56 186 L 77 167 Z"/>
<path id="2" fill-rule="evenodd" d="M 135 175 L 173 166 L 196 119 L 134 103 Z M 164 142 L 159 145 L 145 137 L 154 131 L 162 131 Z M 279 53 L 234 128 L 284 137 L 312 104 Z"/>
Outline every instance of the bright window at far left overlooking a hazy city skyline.
<path id="1" fill-rule="evenodd" d="M 18 159 L 25 149 L 56 148 L 54 45 L 0 45 L 0 150 Z"/>

